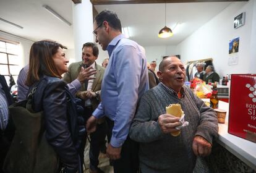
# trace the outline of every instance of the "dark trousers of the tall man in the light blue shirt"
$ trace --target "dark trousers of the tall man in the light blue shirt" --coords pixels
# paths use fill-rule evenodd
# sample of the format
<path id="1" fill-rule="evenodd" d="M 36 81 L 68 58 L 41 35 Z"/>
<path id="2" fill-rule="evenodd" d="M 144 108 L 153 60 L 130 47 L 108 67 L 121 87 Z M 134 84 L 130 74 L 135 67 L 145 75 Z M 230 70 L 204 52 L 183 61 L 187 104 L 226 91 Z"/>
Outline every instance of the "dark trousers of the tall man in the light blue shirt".
<path id="1" fill-rule="evenodd" d="M 112 135 L 114 121 L 106 118 L 108 133 Z M 121 150 L 121 158 L 113 160 L 114 173 L 136 173 L 139 171 L 139 143 L 131 140 L 129 135 L 124 141 Z"/>

